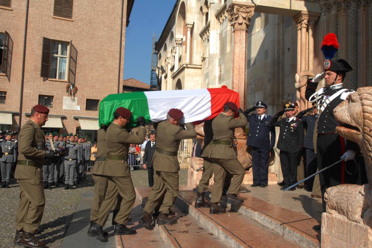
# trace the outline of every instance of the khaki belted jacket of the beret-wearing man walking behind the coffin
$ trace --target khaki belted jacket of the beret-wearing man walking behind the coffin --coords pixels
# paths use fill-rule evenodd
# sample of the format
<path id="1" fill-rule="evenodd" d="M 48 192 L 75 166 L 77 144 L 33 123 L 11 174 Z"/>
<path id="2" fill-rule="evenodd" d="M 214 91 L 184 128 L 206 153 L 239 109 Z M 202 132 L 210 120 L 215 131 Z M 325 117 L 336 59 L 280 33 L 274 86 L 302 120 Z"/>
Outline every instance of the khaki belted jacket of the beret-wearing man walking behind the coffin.
<path id="1" fill-rule="evenodd" d="M 22 126 L 18 135 L 18 161 L 30 160 L 42 165 L 44 157 L 44 132 L 30 119 Z M 41 168 L 19 164 L 16 167 L 15 178 L 17 179 L 41 178 L 41 176 Z"/>

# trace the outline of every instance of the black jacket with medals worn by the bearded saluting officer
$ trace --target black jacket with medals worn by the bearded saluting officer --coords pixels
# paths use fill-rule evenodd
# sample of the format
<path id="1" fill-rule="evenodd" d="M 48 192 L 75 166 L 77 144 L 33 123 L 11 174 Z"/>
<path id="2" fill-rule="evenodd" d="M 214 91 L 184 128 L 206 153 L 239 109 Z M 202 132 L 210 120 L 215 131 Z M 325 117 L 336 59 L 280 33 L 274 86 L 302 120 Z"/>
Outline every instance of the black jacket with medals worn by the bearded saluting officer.
<path id="1" fill-rule="evenodd" d="M 294 119 L 287 123 L 287 118 L 280 121 L 276 121 L 277 119 L 274 116 L 271 121 L 272 126 L 278 126 L 280 129 L 276 148 L 286 152 L 301 151 L 302 146 L 304 146 L 304 125 L 301 120 L 294 117 Z"/>

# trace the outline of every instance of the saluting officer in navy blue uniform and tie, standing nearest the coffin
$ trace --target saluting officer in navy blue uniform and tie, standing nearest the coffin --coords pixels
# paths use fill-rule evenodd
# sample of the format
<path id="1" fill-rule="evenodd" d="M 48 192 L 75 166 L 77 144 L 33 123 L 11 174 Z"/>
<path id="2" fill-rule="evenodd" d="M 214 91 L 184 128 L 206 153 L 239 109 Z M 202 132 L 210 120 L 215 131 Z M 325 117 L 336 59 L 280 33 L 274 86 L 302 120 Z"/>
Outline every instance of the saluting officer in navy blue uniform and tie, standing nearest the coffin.
<path id="1" fill-rule="evenodd" d="M 275 128 L 270 125 L 273 117 L 266 115 L 266 109 L 267 105 L 258 101 L 256 106 L 244 111 L 249 123 L 247 146 L 251 146 L 252 154 L 253 184 L 251 187 L 267 186 L 269 152 L 275 145 Z M 248 115 L 254 110 L 257 110 L 257 114 Z"/>

